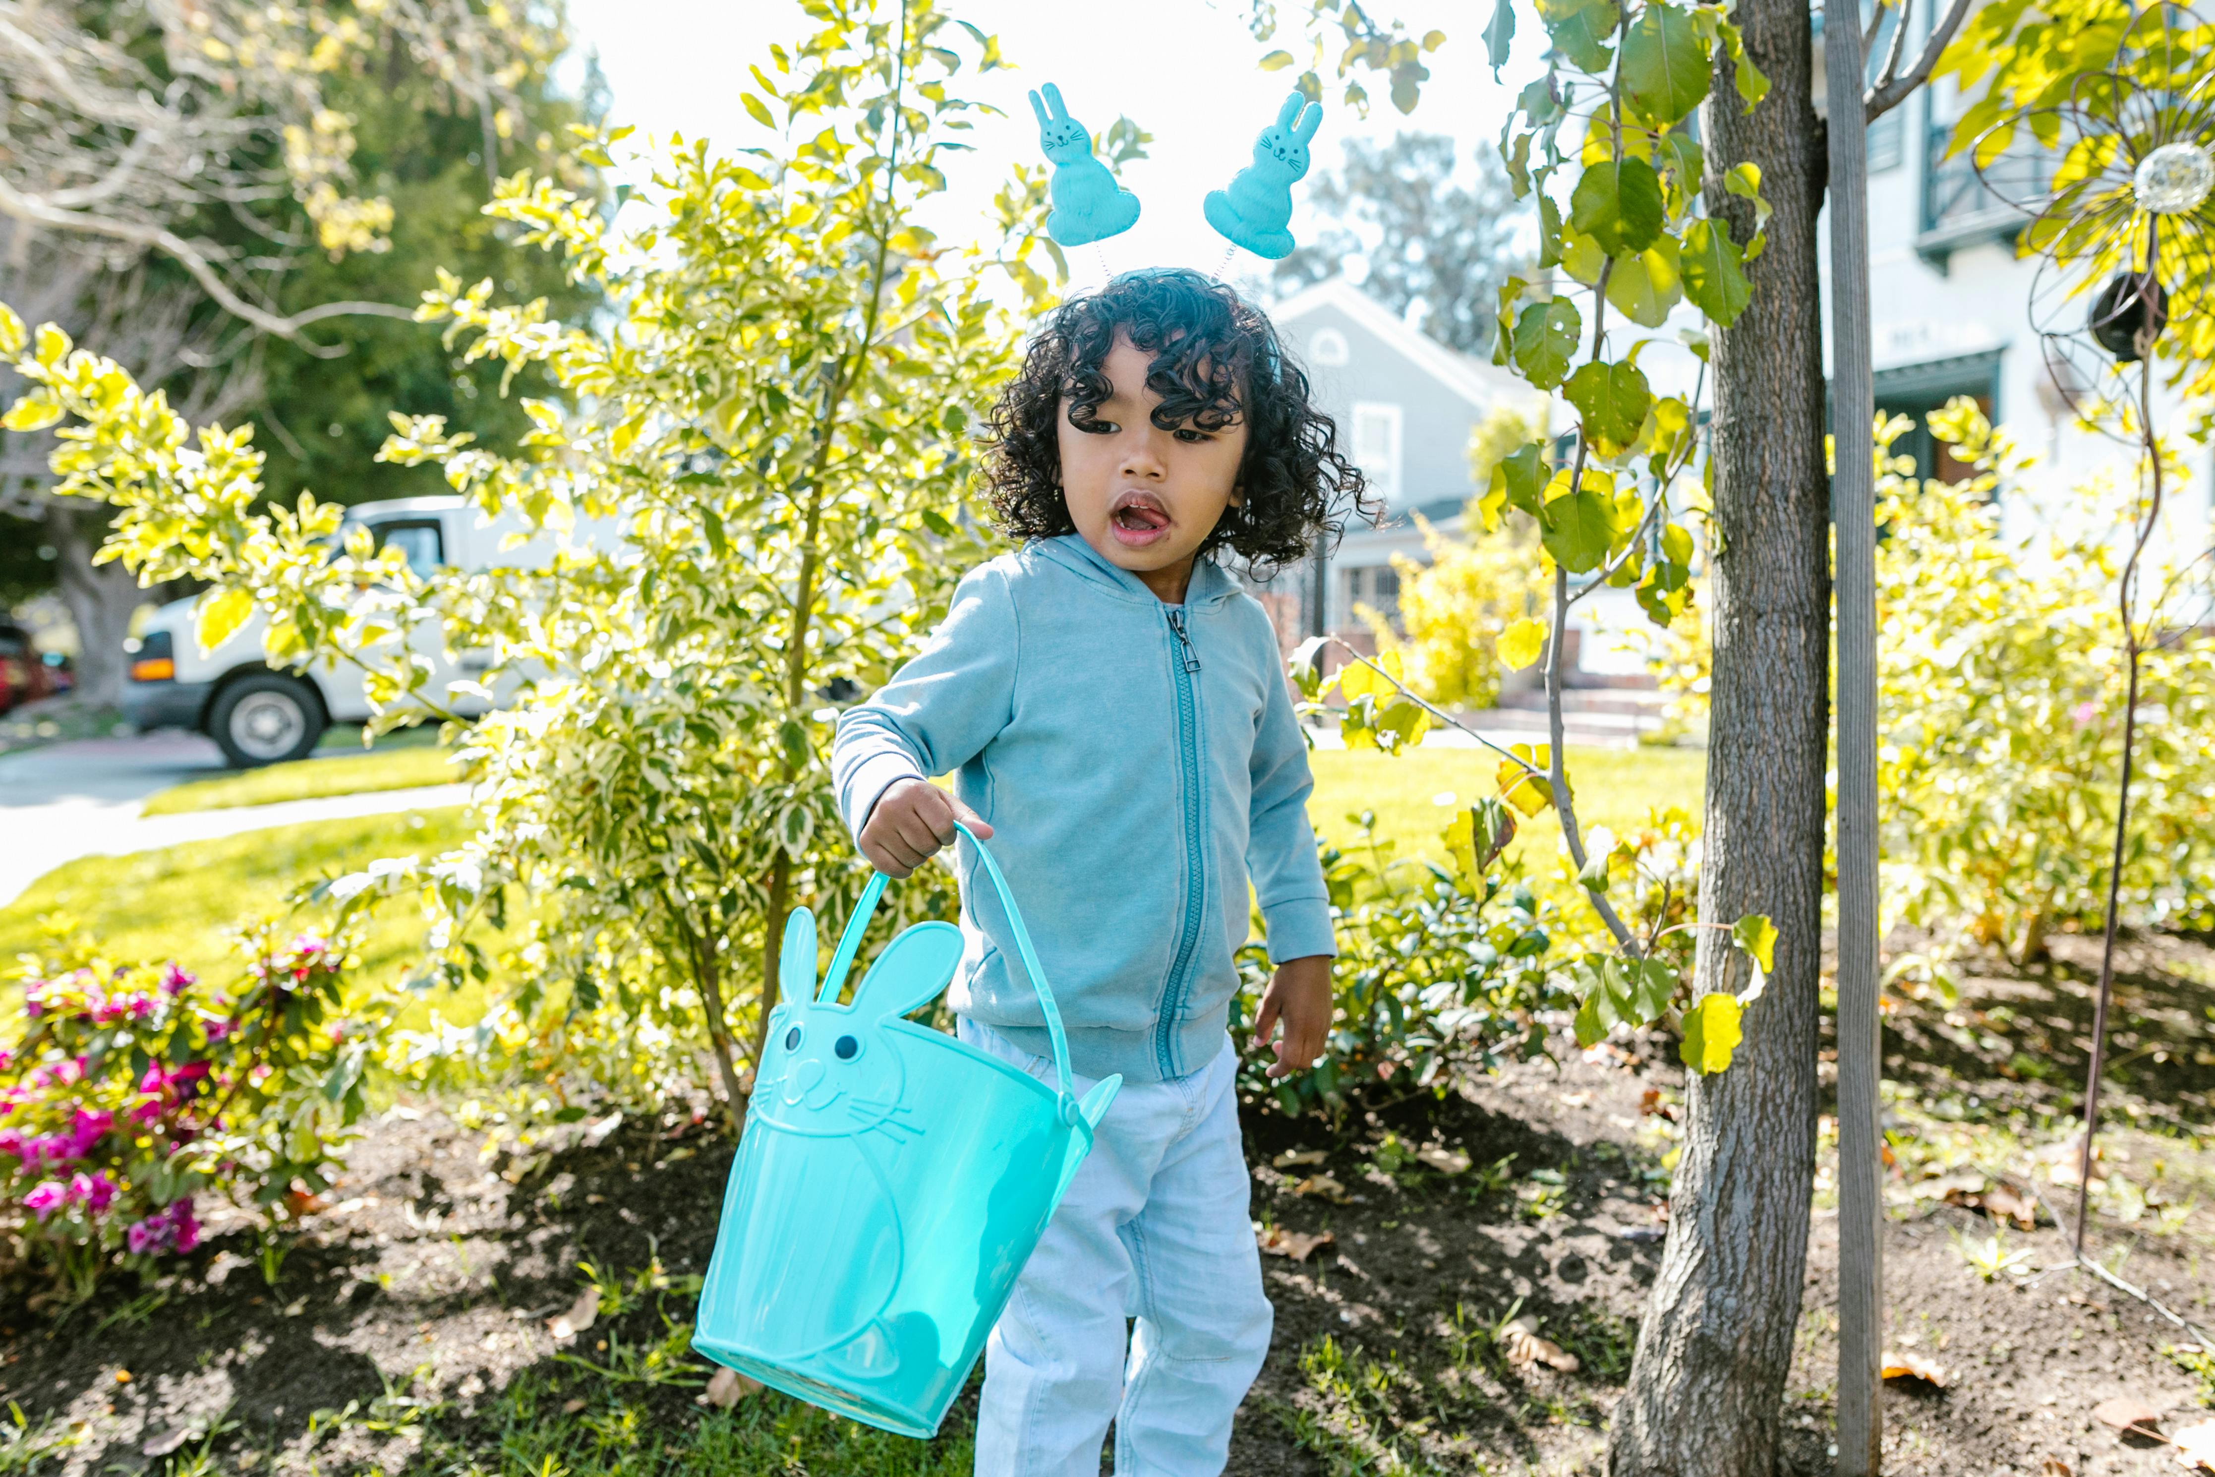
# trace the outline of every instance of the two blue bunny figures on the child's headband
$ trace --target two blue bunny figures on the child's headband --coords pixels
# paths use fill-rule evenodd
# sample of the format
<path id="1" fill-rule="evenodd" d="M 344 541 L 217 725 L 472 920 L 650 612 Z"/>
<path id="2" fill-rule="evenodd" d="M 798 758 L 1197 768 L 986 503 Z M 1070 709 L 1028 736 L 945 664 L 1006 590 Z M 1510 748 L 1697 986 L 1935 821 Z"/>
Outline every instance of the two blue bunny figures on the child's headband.
<path id="1" fill-rule="evenodd" d="M 1045 217 L 1045 235 L 1061 246 L 1083 246 L 1130 230 L 1139 221 L 1139 197 L 1092 157 L 1092 133 L 1070 117 L 1061 89 L 1048 82 L 1043 97 L 1030 95 L 1030 111 L 1039 115 L 1039 148 L 1054 166 L 1054 213 Z M 1276 122 L 1254 140 L 1254 162 L 1227 190 L 1207 193 L 1207 224 L 1256 257 L 1291 255 L 1291 186 L 1307 175 L 1307 142 L 1320 128 L 1320 102 L 1300 93 L 1287 97 Z"/>

